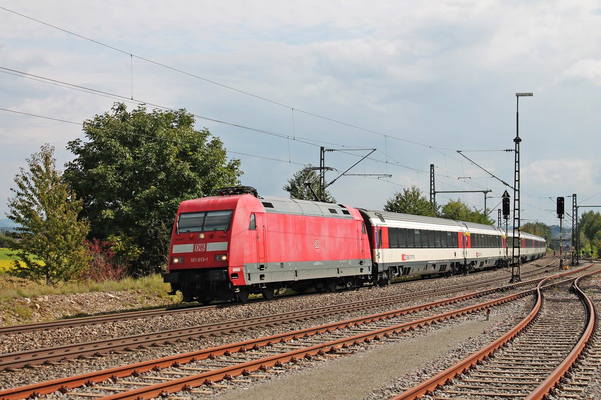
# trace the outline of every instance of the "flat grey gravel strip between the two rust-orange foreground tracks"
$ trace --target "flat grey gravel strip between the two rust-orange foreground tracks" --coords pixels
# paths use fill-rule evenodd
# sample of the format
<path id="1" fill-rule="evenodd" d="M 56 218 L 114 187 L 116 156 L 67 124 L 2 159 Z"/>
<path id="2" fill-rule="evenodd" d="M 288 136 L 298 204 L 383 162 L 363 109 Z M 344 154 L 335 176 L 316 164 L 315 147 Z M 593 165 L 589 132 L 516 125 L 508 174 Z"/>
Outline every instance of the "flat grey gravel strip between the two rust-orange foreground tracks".
<path id="1" fill-rule="evenodd" d="M 371 346 L 356 354 L 321 362 L 314 368 L 287 372 L 269 381 L 239 384 L 211 398 L 260 399 L 387 399 L 403 387 L 419 383 L 478 345 L 498 338 L 513 326 L 523 303 L 502 306 L 486 320 L 483 313 L 458 318 L 442 327 L 418 329 L 410 336 Z M 477 341 L 472 340 L 477 336 Z M 466 341 L 466 338 L 470 340 Z M 407 371 L 413 371 L 407 374 Z M 397 380 L 399 376 L 403 376 Z"/>

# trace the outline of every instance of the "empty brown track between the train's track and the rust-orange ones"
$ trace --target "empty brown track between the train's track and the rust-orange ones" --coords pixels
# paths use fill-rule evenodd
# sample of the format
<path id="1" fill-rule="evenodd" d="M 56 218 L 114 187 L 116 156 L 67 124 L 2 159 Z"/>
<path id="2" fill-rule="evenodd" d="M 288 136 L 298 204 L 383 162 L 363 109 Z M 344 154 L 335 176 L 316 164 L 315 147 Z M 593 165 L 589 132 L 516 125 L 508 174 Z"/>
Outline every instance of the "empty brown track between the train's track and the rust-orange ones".
<path id="1" fill-rule="evenodd" d="M 548 267 L 545 267 L 548 268 Z M 544 269 L 544 268 L 543 268 Z M 540 273 L 540 269 L 532 270 L 523 274 L 523 277 L 534 276 Z M 541 278 L 542 279 L 542 278 Z M 406 300 L 415 300 L 419 297 L 433 296 L 436 294 L 457 293 L 465 290 L 476 290 L 481 287 L 490 287 L 506 281 L 506 278 L 487 279 L 472 284 L 455 285 L 440 289 L 425 290 L 411 294 L 401 294 L 397 296 L 382 297 L 379 299 L 363 300 L 346 304 L 324 306 L 314 309 L 304 309 L 297 312 L 289 312 L 273 315 L 261 315 L 258 317 L 246 318 L 243 320 L 226 321 L 224 323 L 205 324 L 201 326 L 182 327 L 177 329 L 162 330 L 160 332 L 142 333 L 139 335 L 124 336 L 121 338 L 109 338 L 97 341 L 66 344 L 57 347 L 34 348 L 31 350 L 18 351 L 14 353 L 0 354 L 0 369 L 15 369 L 23 366 L 41 365 L 44 363 L 62 362 L 66 359 L 76 357 L 84 358 L 90 356 L 102 356 L 111 351 L 122 350 L 143 350 L 151 345 L 165 344 L 175 341 L 191 341 L 203 336 L 218 335 L 242 329 L 252 329 L 269 324 L 293 323 L 294 321 L 308 320 L 310 318 L 319 318 L 327 315 L 341 314 L 343 312 L 361 311 L 364 309 L 376 308 L 378 306 L 392 305 L 404 302 Z M 540 279 L 538 279 L 540 280 Z M 532 284 L 537 281 L 523 281 L 514 285 L 507 285 L 501 290 L 509 290 L 520 285 Z M 497 289 L 495 288 L 494 291 Z M 472 293 L 471 296 L 481 296 L 486 291 Z M 460 296 L 458 298 L 462 298 Z M 417 309 L 417 308 L 415 308 Z"/>

